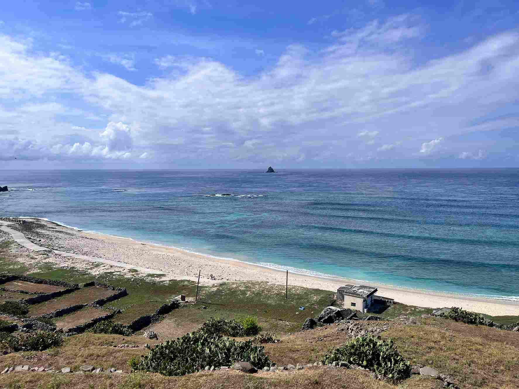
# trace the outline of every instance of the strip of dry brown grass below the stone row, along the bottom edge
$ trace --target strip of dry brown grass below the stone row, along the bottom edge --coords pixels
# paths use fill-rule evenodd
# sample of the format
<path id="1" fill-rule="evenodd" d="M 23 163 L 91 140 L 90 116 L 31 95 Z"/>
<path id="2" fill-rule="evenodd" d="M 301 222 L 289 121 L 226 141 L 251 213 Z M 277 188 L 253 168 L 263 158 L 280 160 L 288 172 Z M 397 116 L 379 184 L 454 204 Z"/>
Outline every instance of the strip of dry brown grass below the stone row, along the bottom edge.
<path id="1" fill-rule="evenodd" d="M 431 382 L 430 379 L 427 380 Z M 390 389 L 394 386 L 373 380 L 358 370 L 312 368 L 299 371 L 246 374 L 217 371 L 163 377 L 159 374 L 46 374 L 16 373 L 6 377 L 8 387 L 59 389 Z M 416 386 L 415 386 L 416 387 Z M 432 385 L 424 388 L 435 387 Z"/>

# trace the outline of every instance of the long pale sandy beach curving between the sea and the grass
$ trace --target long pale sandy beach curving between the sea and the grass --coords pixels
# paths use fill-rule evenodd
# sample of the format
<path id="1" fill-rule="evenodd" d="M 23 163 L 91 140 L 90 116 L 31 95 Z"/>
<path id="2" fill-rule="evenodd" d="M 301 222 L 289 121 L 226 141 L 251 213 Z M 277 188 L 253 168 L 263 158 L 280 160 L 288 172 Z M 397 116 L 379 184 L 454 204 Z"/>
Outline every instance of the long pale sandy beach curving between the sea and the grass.
<path id="1" fill-rule="evenodd" d="M 126 238 L 78 231 L 39 219 L 34 219 L 34 221 L 43 223 L 45 227 L 24 233 L 26 237 L 33 238 L 38 245 L 89 257 L 85 259 L 71 258 L 57 253 L 46 256 L 46 261 L 54 262 L 59 267 L 85 269 L 93 274 L 109 271 L 120 271 L 128 276 L 159 273 L 164 274 L 162 280 L 190 281 L 196 281 L 200 271 L 200 283 L 205 285 L 224 281 L 248 280 L 285 284 L 286 273 L 282 270 L 194 254 L 177 248 L 141 243 Z M 96 266 L 92 266 L 92 261 L 98 262 Z M 139 270 L 139 273 L 130 272 L 131 268 Z M 211 279 L 211 275 L 213 279 Z M 294 286 L 335 291 L 337 287 L 347 283 L 358 284 L 358 281 L 289 272 L 289 285 Z M 366 282 L 363 284 L 376 286 L 379 296 L 419 307 L 456 306 L 489 315 L 519 315 L 518 301 L 475 298 Z"/>

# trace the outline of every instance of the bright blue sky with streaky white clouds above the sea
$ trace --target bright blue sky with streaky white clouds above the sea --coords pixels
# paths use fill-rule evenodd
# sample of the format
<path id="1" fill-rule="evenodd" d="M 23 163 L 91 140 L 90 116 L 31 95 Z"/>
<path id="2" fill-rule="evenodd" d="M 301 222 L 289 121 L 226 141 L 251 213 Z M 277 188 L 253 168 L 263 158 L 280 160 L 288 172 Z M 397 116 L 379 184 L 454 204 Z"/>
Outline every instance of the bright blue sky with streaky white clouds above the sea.
<path id="1" fill-rule="evenodd" d="M 519 166 L 516 1 L 18 0 L 0 169 Z"/>

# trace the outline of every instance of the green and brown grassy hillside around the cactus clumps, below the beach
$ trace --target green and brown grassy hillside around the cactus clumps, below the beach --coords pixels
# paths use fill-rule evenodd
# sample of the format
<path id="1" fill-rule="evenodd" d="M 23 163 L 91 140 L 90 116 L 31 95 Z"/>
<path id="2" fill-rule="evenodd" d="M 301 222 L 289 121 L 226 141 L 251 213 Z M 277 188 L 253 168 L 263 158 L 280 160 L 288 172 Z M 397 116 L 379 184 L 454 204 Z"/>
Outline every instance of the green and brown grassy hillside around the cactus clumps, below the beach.
<path id="1" fill-rule="evenodd" d="M 153 277 L 124 277 L 110 273 L 93 277 L 77 269 L 55 269 L 40 256 L 38 266 L 29 269 L 18 260 L 16 253 L 9 251 L 9 243 L 0 245 L 0 268 L 38 277 L 83 283 L 93 279 L 126 287 L 128 296 L 111 305 L 126 308 L 115 320 L 129 322 L 136 316 L 153 312 L 160 304 L 179 294 L 194 297 L 196 284 L 188 281 L 161 282 Z M 34 254 L 36 257 L 39 254 Z M 131 272 L 130 272 L 131 274 Z M 266 344 L 266 353 L 272 360 L 282 364 L 313 363 L 320 360 L 331 348 L 349 340 L 347 331 L 338 331 L 340 326 L 330 325 L 310 331 L 298 329 L 306 317 L 316 316 L 331 303 L 332 293 L 326 290 L 291 287 L 291 299 L 284 298 L 283 285 L 268 285 L 260 282 L 223 283 L 202 287 L 200 303 L 187 304 L 162 317 L 151 325 L 159 334 L 160 341 L 173 339 L 196 329 L 210 316 L 240 318 L 245 315 L 258 317 L 258 322 L 267 330 L 277 332 L 281 343 Z M 202 309 L 201 306 L 207 307 Z M 298 309 L 300 305 L 304 311 Z M 432 365 L 439 371 L 457 379 L 462 388 L 516 389 L 519 387 L 519 334 L 494 328 L 456 323 L 445 318 L 420 315 L 430 309 L 396 304 L 381 313 L 389 324 L 389 330 L 381 333 L 383 338 L 392 338 L 398 350 L 412 363 Z M 404 325 L 400 316 L 417 317 L 418 325 Z M 62 320 L 66 320 L 65 316 Z M 499 321 L 497 318 L 494 318 Z M 508 317 L 518 321 L 519 317 Z M 363 322 L 367 328 L 380 322 Z M 118 349 L 113 345 L 122 343 L 154 344 L 138 334 L 123 337 L 116 335 L 81 334 L 65 338 L 60 348 L 43 352 L 18 352 L 0 356 L 0 370 L 7 366 L 30 365 L 61 368 L 69 366 L 77 371 L 79 366 L 91 364 L 104 369 L 115 367 L 129 372 L 128 359 L 146 351 Z M 133 374 L 70 374 L 58 376 L 45 373 L 11 373 L 0 377 L 0 387 L 9 388 L 390 388 L 369 374 L 354 370 L 329 370 L 311 368 L 303 371 L 259 373 L 247 375 L 237 372 L 204 372 L 180 378 L 167 378 L 151 373 Z M 398 387 L 430 389 L 441 388 L 439 380 L 413 376 Z"/>

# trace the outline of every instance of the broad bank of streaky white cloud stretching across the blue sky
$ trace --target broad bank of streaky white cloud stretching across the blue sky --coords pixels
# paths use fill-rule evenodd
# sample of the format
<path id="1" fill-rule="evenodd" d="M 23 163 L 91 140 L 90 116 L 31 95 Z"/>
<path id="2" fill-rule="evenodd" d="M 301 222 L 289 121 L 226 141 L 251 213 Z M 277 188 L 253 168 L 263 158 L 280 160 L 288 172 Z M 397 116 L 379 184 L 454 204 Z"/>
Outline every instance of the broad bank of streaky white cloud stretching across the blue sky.
<path id="1" fill-rule="evenodd" d="M 378 151 L 388 150 L 395 138 L 404 140 L 399 158 L 413 160 L 443 156 L 435 152 L 443 137 L 450 147 L 458 136 L 455 160 L 471 150 L 461 144 L 463 136 L 519 126 L 517 117 L 491 118 L 518 97 L 516 32 L 416 61 L 412 50 L 398 50 L 402 40 L 424 31 L 413 23 L 419 21 L 411 16 L 367 23 L 335 34 L 319 51 L 291 45 L 274 66 L 252 77 L 211 58 L 165 55 L 155 63 L 166 74 L 140 85 L 108 73 L 87 74 L 45 54 L 37 41 L 0 36 L 0 58 L 6 59 L 0 61 L 0 99 L 16 103 L 0 104 L 0 155 L 17 147 L 31 159 L 139 161 L 147 153 L 145 159 L 157 163 L 236 166 L 297 164 L 304 156 L 363 166 L 393 155 L 366 145 L 374 140 L 386 147 Z M 103 135 L 61 146 L 47 135 L 70 133 L 76 123 L 89 127 L 85 118 L 108 123 L 98 130 Z M 472 145 L 490 154 L 492 143 L 482 135 Z"/>

